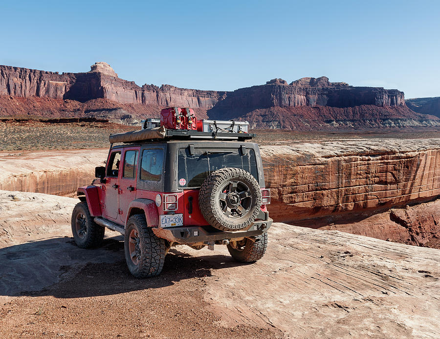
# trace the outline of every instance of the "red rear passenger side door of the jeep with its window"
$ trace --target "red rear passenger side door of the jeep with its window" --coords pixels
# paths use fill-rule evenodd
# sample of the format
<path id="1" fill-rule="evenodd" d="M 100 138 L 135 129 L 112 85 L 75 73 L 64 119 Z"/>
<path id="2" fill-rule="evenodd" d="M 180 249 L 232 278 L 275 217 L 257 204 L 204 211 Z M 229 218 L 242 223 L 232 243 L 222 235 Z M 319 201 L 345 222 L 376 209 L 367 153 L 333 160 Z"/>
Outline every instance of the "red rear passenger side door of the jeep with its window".
<path id="1" fill-rule="evenodd" d="M 125 223 L 130 203 L 136 199 L 136 171 L 139 147 L 124 149 L 119 179 L 119 221 Z"/>

